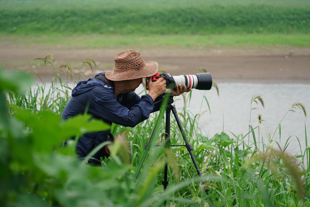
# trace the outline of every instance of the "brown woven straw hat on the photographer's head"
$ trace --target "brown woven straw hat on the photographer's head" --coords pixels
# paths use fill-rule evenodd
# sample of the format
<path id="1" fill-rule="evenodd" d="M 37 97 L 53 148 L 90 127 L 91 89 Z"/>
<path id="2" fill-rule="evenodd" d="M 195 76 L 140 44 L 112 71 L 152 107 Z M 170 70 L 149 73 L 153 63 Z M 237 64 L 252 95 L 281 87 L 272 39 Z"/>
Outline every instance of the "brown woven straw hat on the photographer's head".
<path id="1" fill-rule="evenodd" d="M 155 61 L 144 62 L 140 52 L 125 50 L 114 57 L 114 71 L 105 71 L 105 77 L 109 80 L 121 81 L 145 78 L 154 75 L 158 71 L 158 63 Z"/>

